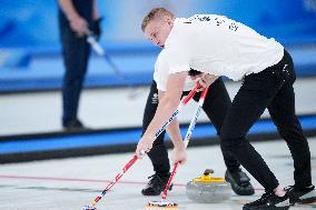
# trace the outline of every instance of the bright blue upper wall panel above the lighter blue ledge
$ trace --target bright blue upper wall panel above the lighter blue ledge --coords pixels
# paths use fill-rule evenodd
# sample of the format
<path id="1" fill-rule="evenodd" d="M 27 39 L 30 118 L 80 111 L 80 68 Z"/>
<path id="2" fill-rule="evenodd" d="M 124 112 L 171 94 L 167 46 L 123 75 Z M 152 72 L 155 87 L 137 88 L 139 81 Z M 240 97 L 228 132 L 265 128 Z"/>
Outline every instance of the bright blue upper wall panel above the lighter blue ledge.
<path id="1" fill-rule="evenodd" d="M 220 13 L 286 43 L 314 42 L 316 0 L 99 0 L 105 18 L 102 43 L 145 41 L 140 22 L 154 7 L 166 7 L 177 16 Z M 1 0 L 0 47 L 41 48 L 59 44 L 56 0 Z"/>

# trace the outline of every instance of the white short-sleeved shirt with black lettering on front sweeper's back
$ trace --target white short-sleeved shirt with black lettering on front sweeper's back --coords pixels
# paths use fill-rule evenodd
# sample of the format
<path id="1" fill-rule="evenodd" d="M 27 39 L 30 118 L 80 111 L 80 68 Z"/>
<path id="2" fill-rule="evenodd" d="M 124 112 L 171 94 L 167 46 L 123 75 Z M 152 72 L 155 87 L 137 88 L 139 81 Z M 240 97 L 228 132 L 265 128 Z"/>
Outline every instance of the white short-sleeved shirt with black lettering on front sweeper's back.
<path id="1" fill-rule="evenodd" d="M 189 67 L 235 81 L 279 62 L 284 48 L 274 39 L 223 16 L 175 19 L 165 43 L 169 73 Z"/>

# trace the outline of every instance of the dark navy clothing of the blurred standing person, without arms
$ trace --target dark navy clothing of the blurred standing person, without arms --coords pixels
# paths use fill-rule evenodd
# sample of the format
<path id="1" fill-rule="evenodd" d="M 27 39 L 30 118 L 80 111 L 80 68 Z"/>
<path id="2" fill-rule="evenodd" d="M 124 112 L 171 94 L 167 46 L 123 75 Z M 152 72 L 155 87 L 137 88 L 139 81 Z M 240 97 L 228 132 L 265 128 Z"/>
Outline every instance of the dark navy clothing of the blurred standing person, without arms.
<path id="1" fill-rule="evenodd" d="M 73 0 L 76 11 L 92 27 L 92 0 Z M 77 118 L 80 93 L 87 72 L 90 46 L 87 38 L 78 38 L 69 21 L 59 10 L 59 31 L 62 46 L 65 76 L 62 81 L 62 122 Z"/>

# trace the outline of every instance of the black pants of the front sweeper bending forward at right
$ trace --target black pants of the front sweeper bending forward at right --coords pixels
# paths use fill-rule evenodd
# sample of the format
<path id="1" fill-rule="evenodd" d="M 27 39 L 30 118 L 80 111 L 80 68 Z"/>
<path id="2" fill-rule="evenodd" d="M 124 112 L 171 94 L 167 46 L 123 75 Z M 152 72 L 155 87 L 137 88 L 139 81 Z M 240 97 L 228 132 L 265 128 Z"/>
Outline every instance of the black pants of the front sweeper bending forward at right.
<path id="1" fill-rule="evenodd" d="M 221 148 L 231 152 L 266 191 L 273 191 L 278 180 L 245 138 L 266 108 L 294 159 L 295 186 L 312 184 L 308 142 L 295 114 L 295 79 L 293 60 L 286 51 L 279 63 L 245 77 L 221 128 Z"/>

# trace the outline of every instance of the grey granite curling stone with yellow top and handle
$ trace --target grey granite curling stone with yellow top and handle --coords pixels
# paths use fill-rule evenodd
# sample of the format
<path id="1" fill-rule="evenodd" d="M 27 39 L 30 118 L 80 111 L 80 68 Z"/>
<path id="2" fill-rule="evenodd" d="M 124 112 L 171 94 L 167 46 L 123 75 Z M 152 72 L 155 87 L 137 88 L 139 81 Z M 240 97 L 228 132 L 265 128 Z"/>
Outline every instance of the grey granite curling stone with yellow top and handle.
<path id="1" fill-rule="evenodd" d="M 224 178 L 213 178 L 214 170 L 206 169 L 199 178 L 192 179 L 186 186 L 188 199 L 200 203 L 216 203 L 230 199 L 230 183 Z"/>

